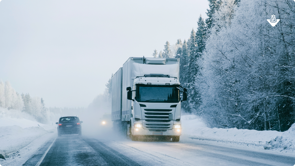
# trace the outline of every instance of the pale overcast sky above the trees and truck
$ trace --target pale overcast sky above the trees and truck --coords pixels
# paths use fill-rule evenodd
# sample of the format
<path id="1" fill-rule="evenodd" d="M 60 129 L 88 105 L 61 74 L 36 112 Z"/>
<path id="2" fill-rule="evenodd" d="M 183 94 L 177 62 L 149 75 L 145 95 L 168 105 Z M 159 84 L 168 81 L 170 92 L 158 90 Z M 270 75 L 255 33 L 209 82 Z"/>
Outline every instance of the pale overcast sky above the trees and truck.
<path id="1" fill-rule="evenodd" d="M 0 1 L 0 80 L 46 107 L 87 107 L 131 56 L 188 39 L 207 0 Z"/>

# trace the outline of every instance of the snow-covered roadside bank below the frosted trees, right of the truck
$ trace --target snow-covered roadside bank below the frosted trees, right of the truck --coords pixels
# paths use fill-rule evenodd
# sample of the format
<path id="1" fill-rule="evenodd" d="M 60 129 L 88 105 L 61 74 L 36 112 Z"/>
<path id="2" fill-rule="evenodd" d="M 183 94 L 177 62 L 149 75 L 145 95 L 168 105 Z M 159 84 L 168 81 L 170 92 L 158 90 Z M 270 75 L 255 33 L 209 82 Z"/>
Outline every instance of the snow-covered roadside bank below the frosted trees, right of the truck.
<path id="1" fill-rule="evenodd" d="M 263 152 L 295 155 L 295 123 L 288 131 L 257 131 L 237 128 L 208 128 L 196 115 L 181 116 L 182 139 L 196 139 Z"/>

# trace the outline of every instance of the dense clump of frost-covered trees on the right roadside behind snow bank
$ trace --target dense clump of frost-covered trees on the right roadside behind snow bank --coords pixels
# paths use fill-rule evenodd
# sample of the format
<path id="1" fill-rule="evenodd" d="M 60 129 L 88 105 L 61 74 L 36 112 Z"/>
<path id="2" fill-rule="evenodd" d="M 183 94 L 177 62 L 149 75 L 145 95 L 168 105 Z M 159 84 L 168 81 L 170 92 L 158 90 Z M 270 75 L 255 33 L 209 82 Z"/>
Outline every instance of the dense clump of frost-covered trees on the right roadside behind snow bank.
<path id="1" fill-rule="evenodd" d="M 215 13 L 198 61 L 203 116 L 211 127 L 285 131 L 294 123 L 294 2 L 235 4 Z"/>

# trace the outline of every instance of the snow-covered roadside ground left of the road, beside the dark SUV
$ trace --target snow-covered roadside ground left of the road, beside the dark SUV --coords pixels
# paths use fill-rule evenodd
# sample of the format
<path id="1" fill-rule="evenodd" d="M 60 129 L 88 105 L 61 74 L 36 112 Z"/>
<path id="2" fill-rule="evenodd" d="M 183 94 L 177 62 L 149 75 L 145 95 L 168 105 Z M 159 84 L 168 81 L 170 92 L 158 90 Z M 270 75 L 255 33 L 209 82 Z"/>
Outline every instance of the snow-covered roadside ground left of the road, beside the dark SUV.
<path id="1" fill-rule="evenodd" d="M 56 134 L 56 125 L 44 125 L 24 118 L 2 116 L 0 122 L 0 154 L 6 159 L 30 156 Z"/>

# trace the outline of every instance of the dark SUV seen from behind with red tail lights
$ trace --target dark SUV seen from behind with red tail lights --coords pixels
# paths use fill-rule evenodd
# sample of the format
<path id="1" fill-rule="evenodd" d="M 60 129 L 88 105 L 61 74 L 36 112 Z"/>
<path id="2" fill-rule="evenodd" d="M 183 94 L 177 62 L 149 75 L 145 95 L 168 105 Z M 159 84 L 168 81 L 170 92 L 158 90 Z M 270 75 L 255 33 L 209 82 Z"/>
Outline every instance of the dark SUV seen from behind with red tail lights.
<path id="1" fill-rule="evenodd" d="M 80 121 L 78 116 L 61 116 L 59 122 L 55 123 L 58 125 L 58 136 L 62 134 L 79 134 L 79 136 L 81 136 L 81 123 L 83 123 L 83 121 Z"/>

